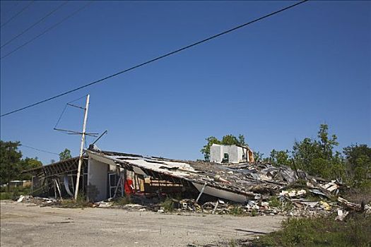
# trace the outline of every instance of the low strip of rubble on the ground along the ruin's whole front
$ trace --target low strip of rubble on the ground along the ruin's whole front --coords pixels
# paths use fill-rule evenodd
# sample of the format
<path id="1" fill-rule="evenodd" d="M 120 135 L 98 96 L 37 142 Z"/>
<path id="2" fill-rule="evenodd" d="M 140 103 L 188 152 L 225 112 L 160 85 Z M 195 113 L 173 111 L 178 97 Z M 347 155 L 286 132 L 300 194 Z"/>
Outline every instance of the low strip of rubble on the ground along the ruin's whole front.
<path id="1" fill-rule="evenodd" d="M 162 203 L 149 203 L 146 205 L 128 203 L 118 205 L 114 200 L 88 203 L 88 207 L 110 207 L 124 210 L 153 211 L 153 212 L 201 212 L 216 215 L 285 215 L 292 217 L 317 217 L 319 215 L 330 215 L 336 213 L 336 219 L 343 220 L 351 211 L 364 211 L 371 214 L 371 205 L 360 205 L 348 202 L 338 197 L 324 197 L 318 191 L 311 189 L 283 190 L 268 200 L 249 200 L 245 205 L 232 203 L 225 200 L 216 202 L 197 203 L 195 199 L 172 200 L 173 208 L 166 210 Z M 18 203 L 33 203 L 40 207 L 73 207 L 73 205 L 62 203 L 54 198 L 39 198 L 32 195 L 20 195 Z"/>

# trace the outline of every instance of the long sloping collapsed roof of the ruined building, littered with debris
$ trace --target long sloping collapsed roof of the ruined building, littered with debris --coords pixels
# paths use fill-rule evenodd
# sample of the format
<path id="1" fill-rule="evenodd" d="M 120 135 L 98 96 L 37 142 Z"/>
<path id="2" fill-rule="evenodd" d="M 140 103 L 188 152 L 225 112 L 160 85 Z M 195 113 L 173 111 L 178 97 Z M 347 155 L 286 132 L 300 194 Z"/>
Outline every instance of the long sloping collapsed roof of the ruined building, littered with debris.
<path id="1" fill-rule="evenodd" d="M 290 168 L 270 164 L 216 164 L 101 150 L 86 153 L 90 159 L 111 166 L 158 179 L 192 183 L 201 193 L 239 203 L 272 194 L 298 179 Z"/>

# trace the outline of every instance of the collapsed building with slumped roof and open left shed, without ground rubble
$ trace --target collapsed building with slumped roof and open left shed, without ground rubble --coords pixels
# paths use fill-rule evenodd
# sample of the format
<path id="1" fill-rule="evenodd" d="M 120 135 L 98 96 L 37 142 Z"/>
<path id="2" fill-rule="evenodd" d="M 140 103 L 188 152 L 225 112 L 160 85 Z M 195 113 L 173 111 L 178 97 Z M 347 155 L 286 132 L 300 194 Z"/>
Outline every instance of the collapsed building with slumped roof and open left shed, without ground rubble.
<path id="1" fill-rule="evenodd" d="M 72 196 L 77 164 L 75 157 L 25 172 L 33 174 L 33 191 Z M 92 202 L 131 193 L 157 193 L 247 203 L 273 195 L 300 177 L 288 167 L 270 164 L 192 162 L 96 147 L 86 150 L 82 171 L 79 189 Z"/>

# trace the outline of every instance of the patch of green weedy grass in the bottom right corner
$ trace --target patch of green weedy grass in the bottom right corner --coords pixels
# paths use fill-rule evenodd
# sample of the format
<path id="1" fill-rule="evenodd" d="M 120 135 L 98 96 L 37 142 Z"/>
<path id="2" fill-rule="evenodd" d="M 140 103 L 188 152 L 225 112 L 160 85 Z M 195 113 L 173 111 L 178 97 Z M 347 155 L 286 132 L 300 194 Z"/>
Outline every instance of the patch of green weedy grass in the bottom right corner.
<path id="1" fill-rule="evenodd" d="M 345 222 L 334 217 L 292 218 L 283 229 L 255 240 L 250 246 L 370 246 L 371 220 L 353 215 Z"/>

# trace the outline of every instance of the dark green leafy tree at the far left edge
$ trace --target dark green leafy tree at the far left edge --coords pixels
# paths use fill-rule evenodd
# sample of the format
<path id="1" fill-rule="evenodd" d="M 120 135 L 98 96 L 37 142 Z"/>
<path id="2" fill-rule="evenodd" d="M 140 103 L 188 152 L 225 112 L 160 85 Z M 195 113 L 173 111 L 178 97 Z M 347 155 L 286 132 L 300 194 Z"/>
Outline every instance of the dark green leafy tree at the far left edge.
<path id="1" fill-rule="evenodd" d="M 16 179 L 20 173 L 20 158 L 22 153 L 18 151 L 19 142 L 4 142 L 0 140 L 0 183 L 8 183 Z"/>

